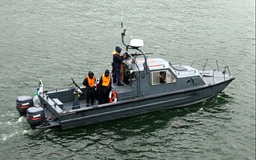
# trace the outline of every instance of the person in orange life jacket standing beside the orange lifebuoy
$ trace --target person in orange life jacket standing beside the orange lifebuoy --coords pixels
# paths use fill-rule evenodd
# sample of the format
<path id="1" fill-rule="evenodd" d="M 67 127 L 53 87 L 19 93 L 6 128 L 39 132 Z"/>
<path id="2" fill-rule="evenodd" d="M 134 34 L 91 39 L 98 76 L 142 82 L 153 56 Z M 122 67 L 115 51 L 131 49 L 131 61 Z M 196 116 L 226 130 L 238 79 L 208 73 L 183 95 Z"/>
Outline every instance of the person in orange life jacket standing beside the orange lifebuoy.
<path id="1" fill-rule="evenodd" d="M 109 102 L 109 93 L 111 89 L 110 71 L 106 69 L 98 83 L 99 87 L 99 104 Z"/>

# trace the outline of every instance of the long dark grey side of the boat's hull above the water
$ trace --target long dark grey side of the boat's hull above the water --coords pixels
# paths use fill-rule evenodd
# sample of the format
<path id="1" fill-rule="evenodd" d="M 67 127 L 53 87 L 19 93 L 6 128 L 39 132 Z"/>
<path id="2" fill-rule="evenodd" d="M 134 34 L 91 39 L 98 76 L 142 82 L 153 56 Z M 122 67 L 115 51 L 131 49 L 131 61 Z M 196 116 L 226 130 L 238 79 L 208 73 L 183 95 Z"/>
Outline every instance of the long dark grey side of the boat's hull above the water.
<path id="1" fill-rule="evenodd" d="M 199 88 L 189 88 L 179 90 L 178 92 L 166 92 L 154 96 L 143 96 L 134 100 L 107 103 L 98 107 L 81 108 L 77 111 L 60 114 L 58 120 L 62 129 L 66 129 L 132 115 L 140 115 L 150 111 L 185 107 L 217 95 L 232 80 L 234 78 L 223 81 L 222 83 L 205 85 Z"/>

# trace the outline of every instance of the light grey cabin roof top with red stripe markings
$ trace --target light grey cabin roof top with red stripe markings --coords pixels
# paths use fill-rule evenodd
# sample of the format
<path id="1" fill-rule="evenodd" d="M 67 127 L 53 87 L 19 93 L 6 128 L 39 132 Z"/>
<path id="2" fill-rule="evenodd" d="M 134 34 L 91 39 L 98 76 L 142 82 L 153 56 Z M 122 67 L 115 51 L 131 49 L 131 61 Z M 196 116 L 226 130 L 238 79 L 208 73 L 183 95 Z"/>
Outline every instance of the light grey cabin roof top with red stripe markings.
<path id="1" fill-rule="evenodd" d="M 157 69 L 166 69 L 170 68 L 170 63 L 166 60 L 163 60 L 162 58 L 147 58 L 147 64 L 150 70 L 157 70 Z M 138 57 L 136 58 L 136 62 L 138 64 L 138 67 L 134 63 L 134 61 L 129 58 L 127 60 L 123 61 L 125 64 L 129 64 L 132 68 L 138 71 L 144 70 L 143 63 L 145 62 L 144 57 Z"/>

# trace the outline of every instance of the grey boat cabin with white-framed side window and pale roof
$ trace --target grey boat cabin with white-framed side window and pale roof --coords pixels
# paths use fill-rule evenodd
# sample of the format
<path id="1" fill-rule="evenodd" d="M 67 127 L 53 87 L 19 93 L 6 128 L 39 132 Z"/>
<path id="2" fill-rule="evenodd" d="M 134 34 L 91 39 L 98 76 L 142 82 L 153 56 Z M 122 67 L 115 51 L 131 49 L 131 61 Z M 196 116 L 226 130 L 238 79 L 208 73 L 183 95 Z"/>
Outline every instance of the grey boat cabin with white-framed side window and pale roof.
<path id="1" fill-rule="evenodd" d="M 129 58 L 123 60 L 121 64 L 122 82 L 125 85 L 113 84 L 118 101 L 205 84 L 197 69 L 181 64 L 170 64 L 162 58 L 148 58 L 140 47 L 128 45 L 126 49 Z M 136 52 L 129 53 L 128 49 L 135 49 Z"/>

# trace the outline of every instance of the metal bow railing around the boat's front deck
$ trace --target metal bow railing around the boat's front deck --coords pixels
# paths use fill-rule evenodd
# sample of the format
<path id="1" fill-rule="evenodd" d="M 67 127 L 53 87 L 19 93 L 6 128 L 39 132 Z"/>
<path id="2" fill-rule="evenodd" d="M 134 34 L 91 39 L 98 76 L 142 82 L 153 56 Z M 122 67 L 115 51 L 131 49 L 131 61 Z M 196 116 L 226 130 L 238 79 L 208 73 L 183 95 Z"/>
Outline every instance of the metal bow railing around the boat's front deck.
<path id="1" fill-rule="evenodd" d="M 213 76 L 213 78 L 214 76 L 216 76 L 216 72 L 221 72 L 221 71 L 224 76 L 224 80 L 226 80 L 227 76 L 228 77 L 231 76 L 229 66 L 214 58 L 194 60 L 192 64 L 190 64 L 190 66 L 192 67 L 194 65 L 197 65 L 198 70 L 202 69 L 202 72 L 209 71 L 209 70 L 212 71 L 211 76 Z"/>

